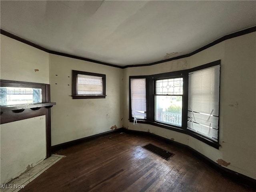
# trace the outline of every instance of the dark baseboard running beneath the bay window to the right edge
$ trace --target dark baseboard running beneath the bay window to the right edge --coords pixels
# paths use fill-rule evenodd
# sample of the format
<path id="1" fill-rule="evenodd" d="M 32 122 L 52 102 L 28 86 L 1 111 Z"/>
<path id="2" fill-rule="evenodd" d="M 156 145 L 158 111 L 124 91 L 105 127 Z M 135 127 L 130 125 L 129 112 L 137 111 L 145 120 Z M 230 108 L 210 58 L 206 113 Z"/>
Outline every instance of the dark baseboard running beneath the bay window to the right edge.
<path id="1" fill-rule="evenodd" d="M 186 148 L 188 149 L 188 151 L 194 155 L 196 158 L 202 160 L 205 164 L 207 164 L 208 166 L 210 166 L 211 168 L 213 168 L 214 170 L 216 170 L 217 172 L 220 172 L 223 176 L 232 179 L 234 182 L 246 185 L 246 186 L 250 186 L 254 189 L 256 189 L 256 180 L 253 178 L 250 178 L 248 176 L 245 176 L 243 174 L 240 174 L 238 172 L 232 171 L 230 169 L 224 168 L 222 166 L 220 166 L 219 164 L 215 163 L 214 161 L 212 161 L 211 159 L 209 159 L 208 157 L 204 156 L 203 154 L 201 154 L 200 152 L 194 150 L 193 148 L 191 148 L 190 146 L 175 142 L 173 140 L 164 138 L 162 136 L 158 136 L 156 134 L 152 134 L 150 132 L 143 132 L 143 131 L 136 131 L 136 130 L 128 130 L 126 128 L 121 128 L 120 129 L 122 132 L 125 132 L 127 134 L 135 134 L 135 135 L 142 135 L 142 136 L 150 136 L 152 138 L 155 138 L 157 140 L 161 140 L 163 142 L 166 142 L 168 144 L 174 144 L 180 148 Z"/>

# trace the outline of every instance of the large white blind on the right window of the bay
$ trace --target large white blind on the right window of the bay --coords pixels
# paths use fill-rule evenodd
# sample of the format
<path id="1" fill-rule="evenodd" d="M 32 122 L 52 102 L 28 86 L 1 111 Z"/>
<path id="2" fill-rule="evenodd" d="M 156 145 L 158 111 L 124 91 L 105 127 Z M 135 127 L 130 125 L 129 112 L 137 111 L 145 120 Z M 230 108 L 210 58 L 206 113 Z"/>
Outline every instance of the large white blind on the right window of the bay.
<path id="1" fill-rule="evenodd" d="M 188 129 L 218 141 L 220 65 L 188 74 Z"/>

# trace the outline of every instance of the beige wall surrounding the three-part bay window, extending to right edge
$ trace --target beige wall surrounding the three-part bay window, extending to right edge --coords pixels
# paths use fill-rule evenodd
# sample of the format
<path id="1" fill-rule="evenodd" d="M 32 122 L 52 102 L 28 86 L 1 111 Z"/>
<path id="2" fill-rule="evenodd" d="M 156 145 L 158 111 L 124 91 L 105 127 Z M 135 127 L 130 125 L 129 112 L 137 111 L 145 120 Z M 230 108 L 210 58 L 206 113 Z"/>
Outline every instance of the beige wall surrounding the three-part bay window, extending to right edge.
<path id="1" fill-rule="evenodd" d="M 133 125 L 128 121 L 129 76 L 188 69 L 219 59 L 221 60 L 219 150 L 186 134 L 148 124 Z M 173 138 L 214 162 L 218 159 L 230 162 L 228 169 L 256 179 L 256 32 L 226 40 L 188 58 L 154 66 L 126 68 L 123 97 L 126 128 L 150 131 L 165 138 Z"/>

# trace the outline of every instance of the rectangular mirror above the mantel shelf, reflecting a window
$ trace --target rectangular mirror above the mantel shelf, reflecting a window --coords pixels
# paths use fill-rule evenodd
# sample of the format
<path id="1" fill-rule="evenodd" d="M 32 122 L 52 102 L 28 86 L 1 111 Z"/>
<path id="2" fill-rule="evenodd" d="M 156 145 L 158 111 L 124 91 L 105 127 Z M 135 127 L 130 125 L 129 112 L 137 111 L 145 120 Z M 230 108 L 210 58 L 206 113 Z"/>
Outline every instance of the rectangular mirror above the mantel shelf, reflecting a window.
<path id="1" fill-rule="evenodd" d="M 1 106 L 42 103 L 42 89 L 1 87 Z"/>

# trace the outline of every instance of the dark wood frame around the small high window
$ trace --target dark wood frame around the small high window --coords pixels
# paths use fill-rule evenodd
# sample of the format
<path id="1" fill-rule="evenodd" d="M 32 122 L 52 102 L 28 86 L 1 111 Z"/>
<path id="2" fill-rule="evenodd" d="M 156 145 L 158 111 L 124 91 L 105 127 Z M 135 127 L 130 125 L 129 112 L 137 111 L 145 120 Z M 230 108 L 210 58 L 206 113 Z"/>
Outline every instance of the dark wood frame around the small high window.
<path id="1" fill-rule="evenodd" d="M 78 76 L 78 74 L 102 77 L 102 88 L 103 88 L 102 94 L 100 94 L 100 95 L 79 95 L 79 94 L 77 94 L 77 76 Z M 72 70 L 72 98 L 73 99 L 106 98 L 106 75 Z"/>

